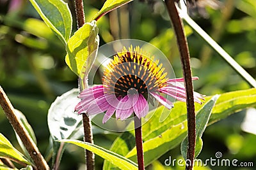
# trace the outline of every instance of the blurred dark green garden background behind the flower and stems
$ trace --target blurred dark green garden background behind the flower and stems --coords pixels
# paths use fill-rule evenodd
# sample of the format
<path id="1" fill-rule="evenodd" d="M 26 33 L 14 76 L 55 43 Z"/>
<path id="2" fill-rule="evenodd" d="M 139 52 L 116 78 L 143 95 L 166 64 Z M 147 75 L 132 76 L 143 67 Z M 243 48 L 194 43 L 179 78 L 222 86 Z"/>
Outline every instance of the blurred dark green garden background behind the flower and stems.
<path id="1" fill-rule="evenodd" d="M 212 4 L 215 1 L 205 2 Z M 76 18 L 74 2 L 67 3 L 73 18 Z M 86 20 L 90 20 L 103 3 L 104 1 L 85 1 Z M 256 1 L 220 1 L 217 8 L 202 6 L 202 3 L 198 5 L 200 13 L 195 9 L 191 11 L 193 19 L 255 78 Z M 97 25 L 100 45 L 123 38 L 147 41 L 168 57 L 176 77 L 182 76 L 179 52 L 162 1 L 133 1 L 100 18 Z M 76 21 L 73 27 L 74 32 Z M 185 27 L 193 75 L 200 78 L 194 82 L 197 92 L 210 96 L 250 88 L 218 53 L 212 51 L 188 25 L 185 24 Z M 77 76 L 70 71 L 64 59 L 65 47 L 42 22 L 28 1 L 0 0 L 0 85 L 13 106 L 26 115 L 42 153 L 46 152 L 49 145 L 47 111 L 51 103 L 56 96 L 77 88 Z M 100 80 L 100 77 L 96 80 Z M 19 148 L 11 125 L 5 115 L 0 113 L 0 132 Z M 236 169 L 256 169 L 256 118 L 252 118 L 255 114 L 254 109 L 240 111 L 207 127 L 203 135 L 204 148 L 198 158 L 215 158 L 215 153 L 221 152 L 223 159 L 238 159 L 241 162 L 253 162 L 254 165 Z M 96 134 L 94 141 L 96 145 L 109 148 L 115 138 L 116 134 Z M 60 169 L 83 169 L 83 153 L 81 148 L 68 146 Z M 164 154 L 159 161 L 147 168 L 184 169 L 164 166 L 164 160 L 170 155 L 173 159 L 179 159 L 180 148 Z M 96 156 L 97 169 L 101 169 L 102 162 L 103 159 Z"/>

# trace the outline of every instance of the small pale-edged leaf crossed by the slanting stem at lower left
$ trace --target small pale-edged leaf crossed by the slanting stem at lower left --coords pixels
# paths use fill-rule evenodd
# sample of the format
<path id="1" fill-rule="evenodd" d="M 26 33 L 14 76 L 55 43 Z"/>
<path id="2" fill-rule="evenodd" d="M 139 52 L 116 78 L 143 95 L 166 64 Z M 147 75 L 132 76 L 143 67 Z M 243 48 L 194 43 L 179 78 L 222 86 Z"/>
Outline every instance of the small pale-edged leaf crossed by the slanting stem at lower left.
<path id="1" fill-rule="evenodd" d="M 28 131 L 28 134 L 29 134 L 29 136 L 31 137 L 31 139 L 33 139 L 33 141 L 34 141 L 35 144 L 36 144 L 36 136 L 35 136 L 35 133 L 34 133 L 32 127 L 31 127 L 31 125 L 29 125 L 28 120 L 26 119 L 26 117 L 25 117 L 25 116 L 22 114 L 22 112 L 19 111 L 19 110 L 15 110 L 15 113 L 16 113 L 17 117 L 19 118 L 19 120 L 20 120 L 20 121 L 22 122 L 22 124 L 24 125 L 25 129 Z M 23 150 L 24 154 L 26 155 L 26 157 L 27 157 L 28 159 L 30 159 L 30 155 L 29 155 L 29 153 L 28 153 L 26 147 L 24 146 L 24 144 L 23 144 L 22 141 L 20 140 L 19 135 L 18 135 L 17 133 L 15 133 L 15 135 L 16 135 L 17 141 L 19 142 L 20 148 L 22 148 L 22 150 Z M 32 160 L 31 160 L 31 162 L 32 162 Z"/>

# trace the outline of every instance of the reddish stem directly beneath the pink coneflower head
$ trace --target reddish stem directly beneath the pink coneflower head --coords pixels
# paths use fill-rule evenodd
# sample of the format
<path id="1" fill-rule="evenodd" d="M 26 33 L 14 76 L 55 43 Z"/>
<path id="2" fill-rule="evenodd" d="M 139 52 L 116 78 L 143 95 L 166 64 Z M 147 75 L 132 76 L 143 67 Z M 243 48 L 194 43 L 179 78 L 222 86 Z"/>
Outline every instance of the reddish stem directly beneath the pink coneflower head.
<path id="1" fill-rule="evenodd" d="M 135 141 L 137 150 L 138 169 L 144 170 L 144 158 L 143 158 L 143 144 L 142 144 L 142 131 L 141 131 L 141 119 L 139 119 L 134 113 L 134 127 L 135 127 Z"/>

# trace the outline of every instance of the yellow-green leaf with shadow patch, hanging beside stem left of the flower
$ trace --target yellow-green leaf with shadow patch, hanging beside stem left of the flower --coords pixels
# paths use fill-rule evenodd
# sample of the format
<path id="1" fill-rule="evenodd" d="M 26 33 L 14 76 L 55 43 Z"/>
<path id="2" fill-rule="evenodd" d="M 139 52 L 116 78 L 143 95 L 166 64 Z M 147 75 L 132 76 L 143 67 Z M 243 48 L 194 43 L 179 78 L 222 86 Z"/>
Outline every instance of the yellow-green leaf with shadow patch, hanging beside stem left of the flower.
<path id="1" fill-rule="evenodd" d="M 98 32 L 99 30 L 95 21 L 86 22 L 68 40 L 66 46 L 66 63 L 81 79 L 88 75 L 97 56 L 97 50 L 99 48 Z"/>

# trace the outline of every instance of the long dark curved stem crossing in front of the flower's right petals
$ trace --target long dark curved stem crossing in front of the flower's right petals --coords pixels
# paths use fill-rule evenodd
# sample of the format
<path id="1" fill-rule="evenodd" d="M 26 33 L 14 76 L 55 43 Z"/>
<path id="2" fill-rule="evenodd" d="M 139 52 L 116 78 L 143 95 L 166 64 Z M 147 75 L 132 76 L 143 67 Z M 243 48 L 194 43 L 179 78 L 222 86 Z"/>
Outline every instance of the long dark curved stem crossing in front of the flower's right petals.
<path id="1" fill-rule="evenodd" d="M 188 151 L 187 159 L 191 164 L 186 164 L 186 169 L 193 169 L 193 160 L 195 156 L 195 143 L 196 143 L 196 118 L 195 118 L 195 103 L 193 95 L 193 83 L 191 76 L 190 57 L 188 50 L 188 43 L 184 34 L 184 27 L 180 20 L 179 13 L 175 6 L 174 0 L 165 0 L 168 13 L 172 20 L 173 29 L 176 34 L 177 43 L 179 45 L 180 60 L 182 62 L 183 75 L 186 87 L 186 103 L 187 103 L 187 116 L 188 116 Z"/>

